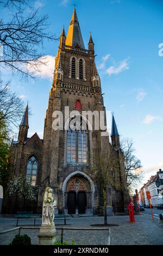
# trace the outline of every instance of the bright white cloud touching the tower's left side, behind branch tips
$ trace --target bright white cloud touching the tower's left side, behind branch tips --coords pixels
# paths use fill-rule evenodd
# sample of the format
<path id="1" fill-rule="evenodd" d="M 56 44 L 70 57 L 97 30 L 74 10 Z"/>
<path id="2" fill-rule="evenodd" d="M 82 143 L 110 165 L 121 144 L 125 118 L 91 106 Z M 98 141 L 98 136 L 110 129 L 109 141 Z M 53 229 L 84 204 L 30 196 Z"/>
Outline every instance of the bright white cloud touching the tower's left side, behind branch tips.
<path id="1" fill-rule="evenodd" d="M 53 79 L 54 67 L 55 67 L 55 57 L 52 55 L 45 55 L 39 59 L 42 64 L 39 64 L 39 71 L 35 70 L 32 66 L 27 66 L 30 72 L 33 72 L 35 76 L 42 79 Z M 45 64 L 44 64 L 45 63 Z"/>

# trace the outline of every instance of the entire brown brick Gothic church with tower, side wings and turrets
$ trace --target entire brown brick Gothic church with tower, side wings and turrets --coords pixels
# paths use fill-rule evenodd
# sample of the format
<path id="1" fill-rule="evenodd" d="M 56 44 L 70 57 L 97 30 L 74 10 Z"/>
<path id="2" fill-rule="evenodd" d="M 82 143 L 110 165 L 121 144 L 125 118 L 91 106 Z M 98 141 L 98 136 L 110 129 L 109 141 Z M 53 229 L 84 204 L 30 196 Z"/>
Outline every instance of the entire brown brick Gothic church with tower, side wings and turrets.
<path id="1" fill-rule="evenodd" d="M 55 211 L 70 214 L 98 214 L 103 207 L 102 189 L 98 179 L 90 175 L 95 161 L 97 144 L 101 147 L 108 141 L 109 150 L 121 162 L 119 180 L 121 190 L 108 186 L 108 207 L 112 201 L 127 200 L 128 192 L 114 116 L 112 116 L 111 141 L 109 136 L 98 136 L 92 130 L 72 130 L 71 118 L 66 120 L 68 129 L 53 129 L 53 112 L 64 114 L 65 106 L 70 111 L 105 111 L 101 89 L 101 79 L 95 64 L 94 43 L 90 34 L 88 49 L 85 49 L 76 9 L 73 10 L 67 37 L 64 28 L 60 35 L 59 50 L 55 58 L 54 79 L 49 93 L 45 117 L 43 139 L 37 133 L 28 137 L 28 105 L 24 111 L 17 141 L 11 148 L 11 176 L 23 175 L 30 179 L 31 185 L 39 185 L 36 201 L 28 202 L 28 210 L 41 213 L 43 192 L 46 186 L 53 188 Z M 65 116 L 64 116 L 65 118 Z M 106 123 L 106 118 L 105 118 Z M 65 121 L 64 121 L 65 125 Z M 123 188 L 123 189 L 122 189 Z M 5 195 L 5 212 L 15 213 L 23 210 L 22 199 Z"/>

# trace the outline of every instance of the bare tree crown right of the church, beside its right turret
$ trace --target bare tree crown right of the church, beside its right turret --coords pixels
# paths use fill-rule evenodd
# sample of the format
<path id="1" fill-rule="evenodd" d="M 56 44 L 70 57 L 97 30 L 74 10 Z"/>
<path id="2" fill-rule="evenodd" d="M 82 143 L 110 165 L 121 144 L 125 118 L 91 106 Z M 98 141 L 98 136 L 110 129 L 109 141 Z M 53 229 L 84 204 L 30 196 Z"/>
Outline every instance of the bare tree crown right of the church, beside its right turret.
<path id="1" fill-rule="evenodd" d="M 127 187 L 131 189 L 132 187 L 137 186 L 143 178 L 141 170 L 142 165 L 140 159 L 134 154 L 135 148 L 132 140 L 122 140 L 121 149 L 124 156 Z"/>

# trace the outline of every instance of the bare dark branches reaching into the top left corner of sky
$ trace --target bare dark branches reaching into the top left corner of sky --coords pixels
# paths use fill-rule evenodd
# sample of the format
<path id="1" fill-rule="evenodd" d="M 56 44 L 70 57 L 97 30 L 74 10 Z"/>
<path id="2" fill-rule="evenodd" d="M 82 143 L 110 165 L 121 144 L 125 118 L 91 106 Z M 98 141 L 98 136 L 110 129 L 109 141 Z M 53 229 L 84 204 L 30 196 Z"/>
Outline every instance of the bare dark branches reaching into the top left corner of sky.
<path id="1" fill-rule="evenodd" d="M 38 10 L 32 9 L 32 2 L 0 0 L 0 5 L 10 8 L 12 13 L 9 21 L 0 20 L 0 66 L 12 73 L 19 72 L 25 78 L 33 78 L 33 70 L 39 72 L 40 64 L 46 64 L 40 50 L 43 41 L 56 39 L 47 32 L 48 15 L 39 16 Z M 29 14 L 24 8 L 27 5 L 30 7 Z"/>

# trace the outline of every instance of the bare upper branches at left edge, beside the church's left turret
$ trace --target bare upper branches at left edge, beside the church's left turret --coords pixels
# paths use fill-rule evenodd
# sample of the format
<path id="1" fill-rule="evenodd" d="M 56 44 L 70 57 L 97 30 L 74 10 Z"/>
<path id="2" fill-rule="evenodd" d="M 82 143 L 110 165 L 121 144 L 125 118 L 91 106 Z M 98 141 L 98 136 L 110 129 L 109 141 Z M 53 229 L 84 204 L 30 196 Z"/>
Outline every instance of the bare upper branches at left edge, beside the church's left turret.
<path id="1" fill-rule="evenodd" d="M 9 82 L 3 84 L 0 80 L 0 125 L 5 122 L 8 127 L 8 135 L 18 127 L 24 112 L 24 103 L 16 93 L 11 92 Z M 7 139 L 7 138 L 4 138 Z"/>

